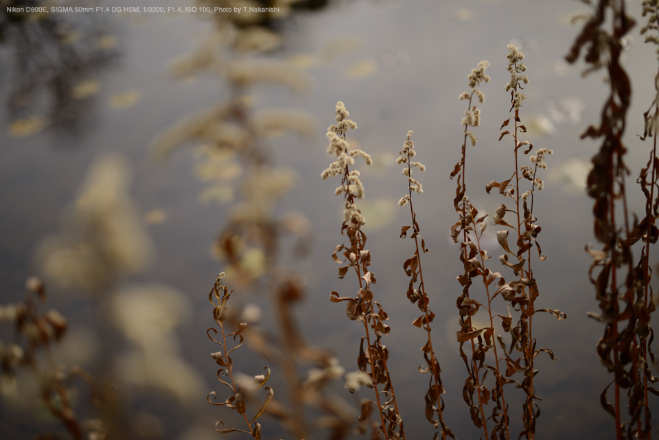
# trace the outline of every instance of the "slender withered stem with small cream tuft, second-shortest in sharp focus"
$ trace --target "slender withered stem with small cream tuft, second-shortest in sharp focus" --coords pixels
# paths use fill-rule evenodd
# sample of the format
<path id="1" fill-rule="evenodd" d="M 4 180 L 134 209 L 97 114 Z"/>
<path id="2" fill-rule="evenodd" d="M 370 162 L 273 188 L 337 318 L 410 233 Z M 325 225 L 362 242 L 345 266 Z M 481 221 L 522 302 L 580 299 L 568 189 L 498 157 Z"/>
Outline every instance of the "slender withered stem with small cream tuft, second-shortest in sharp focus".
<path id="1" fill-rule="evenodd" d="M 455 438 L 452 430 L 446 426 L 442 416 L 442 411 L 444 408 L 444 402 L 441 398 L 443 393 L 446 393 L 444 390 L 444 385 L 441 382 L 441 368 L 439 367 L 439 360 L 437 360 L 437 355 L 435 354 L 435 349 L 432 348 L 432 336 L 430 332 L 430 323 L 435 319 L 435 313 L 428 308 L 428 303 L 430 303 L 430 298 L 426 293 L 426 285 L 424 283 L 424 270 L 421 267 L 421 253 L 419 253 L 419 239 L 421 240 L 421 251 L 428 253 L 426 248 L 426 242 L 419 235 L 421 227 L 417 222 L 417 214 L 414 211 L 412 205 L 412 192 L 421 194 L 424 190 L 421 187 L 421 183 L 412 177 L 413 170 L 412 168 L 417 168 L 417 170 L 423 172 L 426 170 L 424 164 L 413 161 L 412 158 L 416 155 L 416 150 L 414 149 L 414 143 L 411 139 L 412 131 L 408 131 L 407 139 L 403 145 L 403 149 L 399 152 L 400 157 L 396 159 L 396 163 L 406 164 L 403 167 L 403 175 L 407 177 L 408 181 L 408 194 L 402 196 L 398 200 L 399 206 L 410 205 L 410 213 L 412 216 L 412 224 L 410 226 L 404 226 L 400 229 L 400 238 L 406 238 L 407 231 L 412 229 L 410 238 L 414 240 L 415 251 L 414 255 L 405 260 L 403 264 L 403 270 L 408 277 L 411 277 L 409 286 L 407 288 L 407 299 L 409 299 L 413 304 L 416 303 L 417 307 L 423 314 L 415 319 L 412 325 L 416 327 L 423 328 L 428 334 L 428 340 L 421 347 L 421 350 L 424 352 L 424 359 L 426 360 L 426 367 L 419 367 L 421 373 L 430 372 L 430 380 L 428 380 L 428 391 L 426 391 L 426 396 L 424 400 L 426 401 L 426 419 L 432 424 L 432 426 L 437 429 L 441 426 L 441 438 L 446 440 L 446 437 Z M 435 419 L 437 415 L 437 419 Z M 437 435 L 435 435 L 437 437 Z"/>

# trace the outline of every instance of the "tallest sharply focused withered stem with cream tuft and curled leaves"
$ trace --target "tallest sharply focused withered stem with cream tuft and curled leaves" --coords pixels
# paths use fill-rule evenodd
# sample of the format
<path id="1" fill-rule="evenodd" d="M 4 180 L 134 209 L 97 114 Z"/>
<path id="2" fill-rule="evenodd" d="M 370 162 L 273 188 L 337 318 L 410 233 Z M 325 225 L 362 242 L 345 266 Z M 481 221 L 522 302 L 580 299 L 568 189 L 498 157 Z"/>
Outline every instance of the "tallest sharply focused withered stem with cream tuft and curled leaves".
<path id="1" fill-rule="evenodd" d="M 506 136 L 509 136 L 512 140 L 515 170 L 507 180 L 501 182 L 492 181 L 485 186 L 485 189 L 489 193 L 492 191 L 492 188 L 496 187 L 499 194 L 511 198 L 514 203 L 512 209 L 503 204 L 499 205 L 495 212 L 494 224 L 506 228 L 496 233 L 498 243 L 506 252 L 499 257 L 500 262 L 511 268 L 513 274 L 518 277 L 515 281 L 502 284 L 500 290 L 502 297 L 509 302 L 509 308 L 518 312 L 519 317 L 518 321 L 513 325 L 509 314 L 509 318 L 504 324 L 505 331 L 511 336 L 508 349 L 506 349 L 502 337 L 498 336 L 497 339 L 502 349 L 504 351 L 507 350 L 507 375 L 512 376 L 517 371 L 522 372 L 524 375 L 519 385 L 524 393 L 526 393 L 526 398 L 522 405 L 523 430 L 520 433 L 520 437 L 524 436 L 527 439 L 533 439 L 535 438 L 536 419 L 540 415 L 540 407 L 536 402 L 537 397 L 533 383 L 537 374 L 537 370 L 534 367 L 535 357 L 540 352 L 545 352 L 551 356 L 552 360 L 555 360 L 551 349 L 536 347 L 536 340 L 533 338 L 533 316 L 536 312 L 547 312 L 553 314 L 559 321 L 562 321 L 566 319 L 566 314 L 558 310 L 545 308 L 536 310 L 535 308 L 535 301 L 540 295 L 540 291 L 537 288 L 537 283 L 533 276 L 533 269 L 531 267 L 533 253 L 531 251 L 533 247 L 537 249 L 540 261 L 546 259 L 546 255 L 542 254 L 540 243 L 537 242 L 537 235 L 540 233 L 541 227 L 537 224 L 537 218 L 533 215 L 533 202 L 535 200 L 535 192 L 542 191 L 544 188 L 544 181 L 537 176 L 537 172 L 547 167 L 545 162 L 546 156 L 553 152 L 547 148 L 540 148 L 535 152 L 535 155 L 529 157 L 531 165 L 520 165 L 520 150 L 522 150 L 523 154 L 529 154 L 533 150 L 533 145 L 529 141 L 520 140 L 520 135 L 527 131 L 527 128 L 522 124 L 522 119 L 520 119 L 520 108 L 526 98 L 526 95 L 522 92 L 524 89 L 522 84 L 528 84 L 529 77 L 524 74 L 527 70 L 527 66 L 522 62 L 524 60 L 524 54 L 518 51 L 514 45 L 508 45 L 507 49 L 507 69 L 510 73 L 510 80 L 505 85 L 505 91 L 510 92 L 511 107 L 509 113 L 513 111 L 514 113 L 501 124 L 500 128 L 502 129 L 509 126 L 511 121 L 513 122 L 513 124 L 510 124 L 512 125 L 511 128 L 501 132 L 499 141 Z M 522 185 L 525 181 L 530 181 L 531 188 L 522 192 Z M 509 216 L 507 220 L 504 220 L 506 213 L 512 213 L 513 218 L 511 219 Z M 508 244 L 509 233 L 511 231 L 516 242 L 516 246 L 512 250 Z M 512 263 L 508 261 L 509 255 L 513 257 Z M 513 349 L 521 353 L 521 358 L 510 358 L 509 355 Z"/>

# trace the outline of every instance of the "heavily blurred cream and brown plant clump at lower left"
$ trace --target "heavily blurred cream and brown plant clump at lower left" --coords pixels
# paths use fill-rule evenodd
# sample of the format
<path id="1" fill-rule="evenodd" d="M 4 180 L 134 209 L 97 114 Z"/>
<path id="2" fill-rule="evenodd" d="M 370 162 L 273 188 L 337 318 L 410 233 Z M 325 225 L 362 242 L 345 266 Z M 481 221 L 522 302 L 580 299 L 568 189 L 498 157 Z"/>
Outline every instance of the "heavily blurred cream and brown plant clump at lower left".
<path id="1" fill-rule="evenodd" d="M 1 344 L 3 397 L 38 402 L 76 440 L 158 436 L 161 426 L 136 407 L 135 397 L 149 390 L 191 404 L 190 397 L 203 389 L 179 355 L 173 331 L 189 315 L 187 299 L 166 286 L 126 284 L 148 267 L 153 252 L 128 194 L 129 176 L 123 159 L 97 159 L 66 211 L 62 231 L 37 250 L 41 273 L 56 294 L 82 294 L 96 308 L 95 329 L 86 332 L 96 334 L 104 347 L 89 359 L 78 356 L 88 366 L 61 363 L 66 356 L 59 352 L 65 350 L 55 343 L 67 342 L 67 320 L 55 310 L 39 311 L 38 301 L 46 298 L 39 279 L 27 281 L 23 303 L 0 308 L 3 320 L 14 323 L 12 342 Z M 163 316 L 168 325 L 163 325 Z M 119 351 L 124 337 L 135 348 Z M 76 378 L 87 385 L 80 386 Z M 43 431 L 38 424 L 33 428 Z M 56 436 L 49 432 L 39 438 Z"/>

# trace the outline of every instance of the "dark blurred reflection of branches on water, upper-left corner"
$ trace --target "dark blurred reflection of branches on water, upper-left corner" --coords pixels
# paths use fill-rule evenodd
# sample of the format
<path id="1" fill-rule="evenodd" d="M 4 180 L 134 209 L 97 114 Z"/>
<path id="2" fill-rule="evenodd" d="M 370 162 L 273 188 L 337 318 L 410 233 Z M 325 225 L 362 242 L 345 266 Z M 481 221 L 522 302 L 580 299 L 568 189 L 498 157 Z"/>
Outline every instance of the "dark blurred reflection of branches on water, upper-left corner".
<path id="1" fill-rule="evenodd" d="M 41 5 L 46 3 L 20 2 L 25 8 Z M 5 64 L 12 67 L 5 73 L 5 107 L 19 135 L 42 126 L 70 137 L 93 130 L 97 78 L 119 60 L 115 25 L 106 17 L 8 12 L 3 5 L 0 43 L 8 52 Z M 45 113 L 43 119 L 35 117 L 38 111 Z"/>

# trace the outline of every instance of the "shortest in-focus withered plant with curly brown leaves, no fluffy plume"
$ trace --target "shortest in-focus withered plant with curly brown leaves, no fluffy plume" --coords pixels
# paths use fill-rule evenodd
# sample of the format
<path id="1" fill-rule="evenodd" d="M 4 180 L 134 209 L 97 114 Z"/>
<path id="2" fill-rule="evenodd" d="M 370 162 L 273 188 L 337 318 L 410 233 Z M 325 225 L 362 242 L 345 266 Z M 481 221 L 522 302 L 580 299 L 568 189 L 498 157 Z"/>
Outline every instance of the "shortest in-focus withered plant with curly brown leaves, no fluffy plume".
<path id="1" fill-rule="evenodd" d="M 258 410 L 256 415 L 254 415 L 254 417 L 251 420 L 248 419 L 246 415 L 247 397 L 251 395 L 253 391 L 260 389 L 262 386 L 266 384 L 268 378 L 270 378 L 270 369 L 268 367 L 264 367 L 266 374 L 255 375 L 254 380 L 253 382 L 251 382 L 251 384 L 244 384 L 233 378 L 233 359 L 231 359 L 231 356 L 229 356 L 229 354 L 231 354 L 231 352 L 233 352 L 234 350 L 240 348 L 240 346 L 244 343 L 245 338 L 244 336 L 242 336 L 242 332 L 246 331 L 247 323 L 240 323 L 238 325 L 238 329 L 236 329 L 235 332 L 227 333 L 224 331 L 224 323 L 225 321 L 227 321 L 227 302 L 229 301 L 229 298 L 231 297 L 233 290 L 229 292 L 227 286 L 224 286 L 224 284 L 222 284 L 222 279 L 224 279 L 224 272 L 218 275 L 215 281 L 215 285 L 213 286 L 213 289 L 208 294 L 208 299 L 209 301 L 211 301 L 211 304 L 213 304 L 214 306 L 213 319 L 220 327 L 220 332 L 222 332 L 222 340 L 220 342 L 219 340 L 216 340 L 213 337 L 218 334 L 217 329 L 213 327 L 210 327 L 207 330 L 207 335 L 214 343 L 222 347 L 223 352 L 217 351 L 216 353 L 211 354 L 211 356 L 213 356 L 213 359 L 215 360 L 216 364 L 220 366 L 220 369 L 218 369 L 218 373 L 217 373 L 218 380 L 220 381 L 221 384 L 228 386 L 233 392 L 233 394 L 227 397 L 227 399 L 224 400 L 224 402 L 213 402 L 213 400 L 216 400 L 217 398 L 217 393 L 213 391 L 209 393 L 209 395 L 206 397 L 206 400 L 209 402 L 209 404 L 216 406 L 227 406 L 227 408 L 231 408 L 235 410 L 238 414 L 242 415 L 242 417 L 245 420 L 245 423 L 247 424 L 247 429 L 248 429 L 248 430 L 242 430 L 238 428 L 218 429 L 218 426 L 224 425 L 224 422 L 218 421 L 215 426 L 218 432 L 221 432 L 222 434 L 225 434 L 227 432 L 234 432 L 234 431 L 246 432 L 248 434 L 251 434 L 252 437 L 254 437 L 255 439 L 260 439 L 261 424 L 257 422 L 257 419 L 263 415 L 266 409 L 268 409 L 268 405 L 270 404 L 270 401 L 273 400 L 275 391 L 273 391 L 273 389 L 270 388 L 270 386 L 266 386 L 264 388 L 266 391 L 268 391 L 268 395 L 266 396 L 266 399 L 264 400 L 261 408 Z M 217 304 L 215 303 L 215 301 L 217 301 Z M 213 336 L 211 336 L 211 332 L 213 332 Z M 235 347 L 231 349 L 228 347 L 227 337 L 233 338 Z M 224 376 L 224 378 L 229 376 L 229 381 L 231 383 L 221 379 L 220 376 Z M 212 400 L 211 400 L 211 396 L 212 396 Z M 252 424 L 254 426 L 252 426 Z"/>

